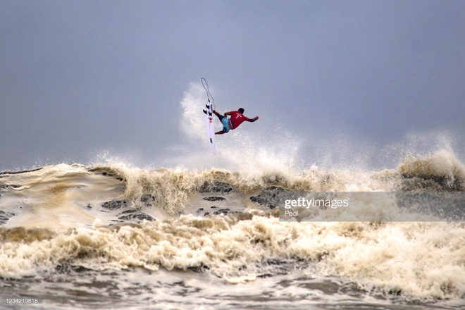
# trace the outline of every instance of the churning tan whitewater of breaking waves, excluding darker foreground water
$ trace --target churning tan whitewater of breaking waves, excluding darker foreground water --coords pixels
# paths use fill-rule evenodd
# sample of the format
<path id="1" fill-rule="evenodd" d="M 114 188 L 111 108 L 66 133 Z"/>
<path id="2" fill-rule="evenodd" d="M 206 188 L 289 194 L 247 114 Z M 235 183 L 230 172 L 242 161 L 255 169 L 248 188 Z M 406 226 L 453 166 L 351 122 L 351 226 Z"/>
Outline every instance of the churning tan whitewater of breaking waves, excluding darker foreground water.
<path id="1" fill-rule="evenodd" d="M 163 268 L 233 285 L 292 274 L 291 287 L 302 278 L 320 279 L 325 292 L 324 281 L 337 278 L 368 296 L 463 302 L 463 223 L 283 223 L 275 202 L 294 191 L 354 191 L 360 178 L 361 191 L 463 191 L 464 177 L 464 166 L 447 153 L 363 175 L 311 167 L 299 175 L 249 178 L 123 164 L 4 172 L 0 276 L 6 285 L 50 281 L 63 269 Z"/>

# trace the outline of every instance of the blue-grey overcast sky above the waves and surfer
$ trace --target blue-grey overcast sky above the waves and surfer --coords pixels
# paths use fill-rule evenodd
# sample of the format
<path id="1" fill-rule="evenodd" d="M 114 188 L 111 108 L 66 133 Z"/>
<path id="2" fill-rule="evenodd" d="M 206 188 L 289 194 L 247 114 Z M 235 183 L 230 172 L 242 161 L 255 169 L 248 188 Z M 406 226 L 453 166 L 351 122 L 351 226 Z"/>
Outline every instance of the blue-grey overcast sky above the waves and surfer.
<path id="1" fill-rule="evenodd" d="M 0 169 L 168 156 L 201 77 L 237 130 L 464 145 L 465 1 L 0 0 Z"/>

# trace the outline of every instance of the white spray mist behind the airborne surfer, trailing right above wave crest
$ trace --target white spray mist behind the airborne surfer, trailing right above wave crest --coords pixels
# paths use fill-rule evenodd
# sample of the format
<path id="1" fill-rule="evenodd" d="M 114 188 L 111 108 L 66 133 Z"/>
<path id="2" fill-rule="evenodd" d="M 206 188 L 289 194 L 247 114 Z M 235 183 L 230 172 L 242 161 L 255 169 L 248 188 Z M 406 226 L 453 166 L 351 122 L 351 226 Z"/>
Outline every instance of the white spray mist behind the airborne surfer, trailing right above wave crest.
<path id="1" fill-rule="evenodd" d="M 216 109 L 220 113 L 244 107 L 247 113 L 255 111 L 253 103 L 231 103 L 221 97 L 221 90 L 211 92 L 216 96 Z M 168 166 L 186 168 L 225 168 L 253 175 L 261 173 L 299 173 L 312 165 L 325 170 L 368 171 L 396 168 L 409 156 L 434 156 L 445 151 L 457 153 L 461 139 L 447 130 L 407 132 L 404 137 L 385 144 L 378 144 L 363 137 L 350 135 L 345 128 L 306 128 L 292 131 L 294 124 L 280 124 L 280 117 L 265 115 L 253 125 L 246 124 L 216 139 L 218 154 L 210 154 L 202 109 L 207 102 L 200 82 L 192 82 L 180 102 L 182 117 L 180 130 L 186 138 L 177 149 Z M 222 125 L 215 118 L 217 129 Z M 455 150 L 454 150 L 455 149 Z M 459 159 L 463 160 L 463 159 Z"/>

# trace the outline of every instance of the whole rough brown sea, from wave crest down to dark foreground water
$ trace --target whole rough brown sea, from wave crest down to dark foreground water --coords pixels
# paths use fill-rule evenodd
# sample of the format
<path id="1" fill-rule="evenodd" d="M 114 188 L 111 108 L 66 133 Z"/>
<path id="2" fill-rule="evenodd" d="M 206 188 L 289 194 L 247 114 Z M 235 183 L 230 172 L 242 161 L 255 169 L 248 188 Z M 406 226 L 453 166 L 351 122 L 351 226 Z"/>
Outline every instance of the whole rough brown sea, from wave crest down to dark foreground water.
<path id="1" fill-rule="evenodd" d="M 289 223 L 275 204 L 292 192 L 463 192 L 464 180 L 447 152 L 352 174 L 123 163 L 4 172 L 0 306 L 463 309 L 463 221 L 412 211 L 416 221 Z"/>

